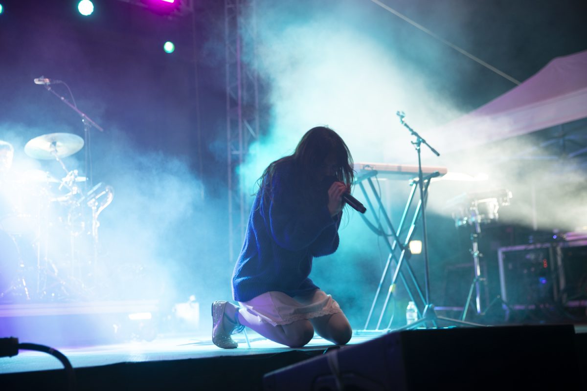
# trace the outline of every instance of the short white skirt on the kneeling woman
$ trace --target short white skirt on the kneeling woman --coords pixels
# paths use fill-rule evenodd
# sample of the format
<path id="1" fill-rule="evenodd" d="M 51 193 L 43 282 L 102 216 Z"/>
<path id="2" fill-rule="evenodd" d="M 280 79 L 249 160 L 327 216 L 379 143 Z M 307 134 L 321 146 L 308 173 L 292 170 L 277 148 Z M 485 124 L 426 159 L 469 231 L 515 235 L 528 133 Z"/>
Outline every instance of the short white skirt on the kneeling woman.
<path id="1" fill-rule="evenodd" d="M 240 304 L 251 314 L 274 326 L 342 312 L 338 302 L 319 289 L 294 297 L 283 292 L 269 291 Z"/>

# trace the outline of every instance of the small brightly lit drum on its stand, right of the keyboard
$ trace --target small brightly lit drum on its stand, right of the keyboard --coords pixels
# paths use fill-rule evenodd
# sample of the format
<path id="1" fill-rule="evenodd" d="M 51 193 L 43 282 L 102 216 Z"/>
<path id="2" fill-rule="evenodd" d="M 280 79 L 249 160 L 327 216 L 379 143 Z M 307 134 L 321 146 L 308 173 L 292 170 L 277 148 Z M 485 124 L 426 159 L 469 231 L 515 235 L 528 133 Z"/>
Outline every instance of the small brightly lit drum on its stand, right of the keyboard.
<path id="1" fill-rule="evenodd" d="M 510 191 L 499 189 L 495 191 L 465 193 L 447 202 L 447 208 L 454 210 L 453 219 L 456 227 L 470 226 L 471 228 L 471 249 L 469 251 L 473 257 L 474 278 L 471 282 L 467 301 L 463 308 L 463 314 L 461 315 L 461 319 L 463 320 L 467 317 L 468 307 L 473 297 L 473 290 L 475 290 L 475 310 L 477 311 L 477 315 L 484 315 L 492 305 L 499 301 L 501 301 L 502 305 L 507 306 L 507 303 L 500 296 L 497 296 L 490 303 L 486 303 L 487 308 L 485 308 L 485 311 L 482 310 L 481 283 L 483 283 L 485 288 L 485 297 L 488 296 L 488 293 L 487 279 L 483 277 L 483 273 L 481 272 L 481 257 L 483 257 L 483 254 L 479 251 L 478 238 L 481 234 L 481 225 L 497 222 L 499 219 L 498 210 L 501 206 L 510 205 L 511 198 L 512 193 Z"/>

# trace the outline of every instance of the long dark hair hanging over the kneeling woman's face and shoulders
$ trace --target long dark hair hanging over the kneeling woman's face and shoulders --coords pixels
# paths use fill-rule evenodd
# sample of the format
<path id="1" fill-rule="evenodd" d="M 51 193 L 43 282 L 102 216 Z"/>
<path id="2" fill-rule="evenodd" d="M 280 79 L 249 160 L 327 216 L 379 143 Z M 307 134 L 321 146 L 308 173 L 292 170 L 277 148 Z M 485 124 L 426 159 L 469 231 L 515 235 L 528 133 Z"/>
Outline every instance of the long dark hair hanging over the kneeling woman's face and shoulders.
<path id="1" fill-rule="evenodd" d="M 315 173 L 330 154 L 336 159 L 336 181 L 345 183 L 350 189 L 355 181 L 355 171 L 349 147 L 338 133 L 328 127 L 319 126 L 303 135 L 292 155 L 278 159 L 265 168 L 258 180 L 259 191 L 264 191 L 264 196 L 271 195 L 276 169 L 282 164 L 291 163 L 294 166 L 292 174 L 295 181 L 292 189 L 307 200 L 316 198 L 316 190 L 321 189 L 321 183 L 316 182 Z"/>

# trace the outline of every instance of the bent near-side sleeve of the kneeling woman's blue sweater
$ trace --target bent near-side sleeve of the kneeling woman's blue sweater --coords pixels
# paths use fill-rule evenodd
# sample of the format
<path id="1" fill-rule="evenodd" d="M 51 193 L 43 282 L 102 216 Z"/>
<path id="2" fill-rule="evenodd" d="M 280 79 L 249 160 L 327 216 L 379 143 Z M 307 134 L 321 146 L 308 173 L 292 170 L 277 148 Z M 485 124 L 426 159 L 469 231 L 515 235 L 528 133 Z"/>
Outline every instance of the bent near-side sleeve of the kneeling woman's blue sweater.
<path id="1" fill-rule="evenodd" d="M 336 222 L 327 209 L 321 209 L 321 213 L 299 213 L 296 202 L 300 201 L 292 194 L 293 184 L 288 179 L 283 171 L 274 175 L 271 195 L 266 202 L 261 202 L 261 215 L 275 243 L 298 251 L 309 247 L 325 229 L 336 230 Z"/>

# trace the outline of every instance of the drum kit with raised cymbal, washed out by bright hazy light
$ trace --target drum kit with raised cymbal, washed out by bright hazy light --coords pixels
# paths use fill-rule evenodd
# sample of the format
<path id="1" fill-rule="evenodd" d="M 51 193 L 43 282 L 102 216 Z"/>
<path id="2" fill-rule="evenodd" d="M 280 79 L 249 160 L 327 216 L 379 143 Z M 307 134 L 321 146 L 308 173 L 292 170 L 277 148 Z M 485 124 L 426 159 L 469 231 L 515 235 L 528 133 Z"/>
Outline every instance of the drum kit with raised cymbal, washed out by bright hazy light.
<path id="1" fill-rule="evenodd" d="M 0 304 L 79 299 L 95 288 L 98 217 L 114 191 L 65 165 L 83 147 L 75 134 L 40 135 L 25 154 L 57 161 L 61 178 L 40 169 L 0 175 Z"/>

